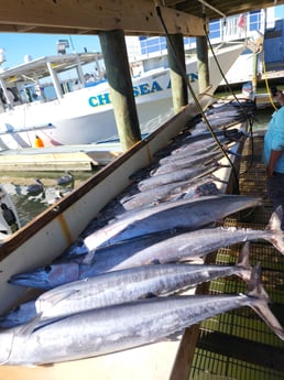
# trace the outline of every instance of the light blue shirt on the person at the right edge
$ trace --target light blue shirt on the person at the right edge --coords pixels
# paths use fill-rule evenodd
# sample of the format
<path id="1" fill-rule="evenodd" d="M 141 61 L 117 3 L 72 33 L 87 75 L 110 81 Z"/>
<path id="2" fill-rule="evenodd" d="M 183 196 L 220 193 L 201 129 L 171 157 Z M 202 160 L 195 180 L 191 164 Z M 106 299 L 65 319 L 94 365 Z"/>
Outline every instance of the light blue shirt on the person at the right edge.
<path id="1" fill-rule="evenodd" d="M 284 150 L 284 107 L 281 107 L 272 115 L 267 131 L 264 137 L 264 164 L 267 165 L 270 161 L 271 150 Z M 277 160 L 275 172 L 284 173 L 284 154 Z"/>

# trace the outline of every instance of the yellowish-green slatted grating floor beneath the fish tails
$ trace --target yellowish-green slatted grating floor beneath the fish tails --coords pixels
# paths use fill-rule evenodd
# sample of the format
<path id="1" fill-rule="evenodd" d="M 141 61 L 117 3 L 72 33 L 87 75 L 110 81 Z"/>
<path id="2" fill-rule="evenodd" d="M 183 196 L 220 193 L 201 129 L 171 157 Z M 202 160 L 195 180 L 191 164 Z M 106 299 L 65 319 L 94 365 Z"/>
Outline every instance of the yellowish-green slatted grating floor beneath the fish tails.
<path id="1" fill-rule="evenodd" d="M 227 226 L 264 229 L 272 213 L 266 197 L 265 171 L 261 162 L 263 138 L 247 140 L 240 166 L 240 194 L 260 196 L 263 207 L 251 214 L 227 218 Z M 251 154 L 253 152 L 253 154 Z M 241 246 L 222 248 L 216 262 L 234 263 Z M 284 256 L 264 240 L 250 243 L 250 262 L 260 262 L 263 285 L 271 310 L 284 324 Z M 212 281 L 209 293 L 244 293 L 242 281 L 232 278 Z M 189 343 L 188 343 L 189 344 Z M 249 307 L 221 314 L 200 324 L 190 366 L 190 380 L 281 380 L 284 378 L 284 343 Z"/>

